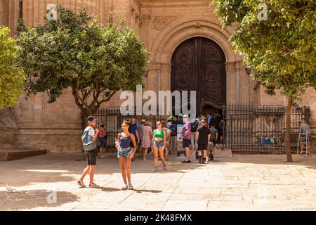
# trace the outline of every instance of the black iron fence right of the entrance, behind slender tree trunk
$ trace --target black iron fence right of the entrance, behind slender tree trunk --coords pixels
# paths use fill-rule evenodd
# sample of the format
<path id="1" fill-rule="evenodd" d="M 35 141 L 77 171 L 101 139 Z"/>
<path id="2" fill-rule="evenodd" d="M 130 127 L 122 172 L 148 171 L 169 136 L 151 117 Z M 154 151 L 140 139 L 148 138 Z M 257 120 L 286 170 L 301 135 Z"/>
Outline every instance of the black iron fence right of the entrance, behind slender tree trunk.
<path id="1" fill-rule="evenodd" d="M 227 105 L 223 110 L 225 120 L 224 145 L 234 152 L 283 153 L 285 150 L 286 108 L 280 106 Z M 297 146 L 302 118 L 307 122 L 310 108 L 293 109 L 291 113 L 291 146 Z"/>

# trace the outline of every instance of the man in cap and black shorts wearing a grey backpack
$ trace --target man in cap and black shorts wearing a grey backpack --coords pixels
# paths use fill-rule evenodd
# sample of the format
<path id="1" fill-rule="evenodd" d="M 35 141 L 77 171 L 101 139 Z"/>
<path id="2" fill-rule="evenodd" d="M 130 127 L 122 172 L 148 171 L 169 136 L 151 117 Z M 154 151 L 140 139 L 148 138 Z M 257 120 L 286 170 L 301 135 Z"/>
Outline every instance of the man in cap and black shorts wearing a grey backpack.
<path id="1" fill-rule="evenodd" d="M 96 157 L 97 157 L 97 145 L 96 139 L 98 137 L 99 130 L 96 129 L 96 119 L 91 116 L 88 117 L 88 127 L 84 129 L 84 134 L 81 136 L 82 145 L 84 147 L 84 154 L 86 155 L 86 162 L 88 166 L 82 172 L 79 181 L 77 184 L 81 188 L 85 188 L 86 185 L 84 184 L 84 177 L 86 174 L 90 176 L 90 184 L 89 187 L 91 188 L 98 188 L 99 186 L 93 182 L 94 172 L 96 170 Z"/>

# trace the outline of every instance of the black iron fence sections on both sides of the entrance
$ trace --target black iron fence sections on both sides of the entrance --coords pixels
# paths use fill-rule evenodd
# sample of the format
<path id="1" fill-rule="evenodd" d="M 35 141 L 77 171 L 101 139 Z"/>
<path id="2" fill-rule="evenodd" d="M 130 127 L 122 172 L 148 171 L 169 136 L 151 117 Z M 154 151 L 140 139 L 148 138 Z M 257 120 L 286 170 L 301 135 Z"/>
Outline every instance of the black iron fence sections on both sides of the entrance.
<path id="1" fill-rule="evenodd" d="M 285 114 L 286 108 L 279 106 L 226 105 L 223 108 L 223 146 L 233 152 L 244 153 L 283 153 L 285 149 Z M 98 125 L 105 124 L 107 146 L 114 148 L 117 134 L 121 132 L 124 120 L 136 119 L 140 124 L 142 119 L 151 122 L 156 129 L 157 115 L 121 115 L 121 108 L 100 108 L 96 113 Z M 296 151 L 299 126 L 302 118 L 309 122 L 310 108 L 293 109 L 291 113 L 291 146 Z"/>

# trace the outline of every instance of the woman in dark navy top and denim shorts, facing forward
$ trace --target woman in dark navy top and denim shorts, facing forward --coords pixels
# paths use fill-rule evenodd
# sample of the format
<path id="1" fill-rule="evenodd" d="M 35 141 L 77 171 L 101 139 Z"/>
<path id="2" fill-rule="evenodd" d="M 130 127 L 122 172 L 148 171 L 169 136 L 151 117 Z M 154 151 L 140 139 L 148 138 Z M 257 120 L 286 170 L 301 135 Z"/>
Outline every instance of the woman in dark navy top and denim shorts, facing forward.
<path id="1" fill-rule="evenodd" d="M 121 176 L 125 184 L 122 190 L 126 190 L 128 188 L 133 189 L 133 185 L 131 184 L 131 160 L 136 153 L 137 145 L 135 136 L 131 134 L 129 130 L 129 122 L 124 121 L 123 124 L 121 124 L 121 128 L 123 132 L 117 136 L 115 147 L 117 148 L 117 158 L 119 159 L 119 165 L 121 167 Z M 131 143 L 133 143 L 133 148 L 131 148 Z M 127 185 L 126 176 L 129 180 L 129 185 Z"/>

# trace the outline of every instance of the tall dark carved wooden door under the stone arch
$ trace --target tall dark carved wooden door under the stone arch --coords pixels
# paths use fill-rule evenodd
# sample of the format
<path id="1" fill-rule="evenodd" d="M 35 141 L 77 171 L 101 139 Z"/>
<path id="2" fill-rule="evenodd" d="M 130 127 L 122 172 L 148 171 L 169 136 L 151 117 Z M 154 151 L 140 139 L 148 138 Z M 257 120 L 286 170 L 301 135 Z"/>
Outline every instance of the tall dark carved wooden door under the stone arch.
<path id="1" fill-rule="evenodd" d="M 214 41 L 204 37 L 184 41 L 173 53 L 171 67 L 171 91 L 197 91 L 197 113 L 205 106 L 225 105 L 225 55 Z"/>

